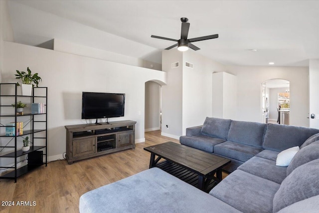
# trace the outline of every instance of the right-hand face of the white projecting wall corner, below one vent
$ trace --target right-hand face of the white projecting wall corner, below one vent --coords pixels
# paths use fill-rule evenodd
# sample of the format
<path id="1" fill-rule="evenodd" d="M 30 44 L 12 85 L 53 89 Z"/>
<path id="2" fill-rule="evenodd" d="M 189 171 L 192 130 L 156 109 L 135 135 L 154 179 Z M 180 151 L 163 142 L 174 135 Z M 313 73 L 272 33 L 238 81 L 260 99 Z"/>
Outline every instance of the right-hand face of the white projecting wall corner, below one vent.
<path id="1" fill-rule="evenodd" d="M 186 128 L 202 125 L 212 115 L 212 73 L 223 71 L 224 65 L 208 59 L 193 50 L 183 55 L 182 135 Z M 193 64 L 193 68 L 185 66 Z"/>

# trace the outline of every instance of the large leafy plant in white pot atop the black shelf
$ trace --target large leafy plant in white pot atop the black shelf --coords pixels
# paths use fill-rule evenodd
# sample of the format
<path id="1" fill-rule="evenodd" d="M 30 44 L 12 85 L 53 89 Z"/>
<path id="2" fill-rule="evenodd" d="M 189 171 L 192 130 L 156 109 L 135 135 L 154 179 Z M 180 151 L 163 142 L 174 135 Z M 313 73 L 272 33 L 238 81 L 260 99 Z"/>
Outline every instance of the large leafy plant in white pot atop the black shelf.
<path id="1" fill-rule="evenodd" d="M 38 76 L 38 73 L 32 74 L 29 67 L 27 67 L 26 70 L 27 72 L 16 70 L 17 74 L 15 74 L 15 78 L 21 79 L 22 81 L 22 95 L 31 96 L 32 87 L 34 87 L 34 84 L 38 87 L 38 84 L 42 79 Z M 19 82 L 17 82 L 17 85 L 20 86 Z"/>

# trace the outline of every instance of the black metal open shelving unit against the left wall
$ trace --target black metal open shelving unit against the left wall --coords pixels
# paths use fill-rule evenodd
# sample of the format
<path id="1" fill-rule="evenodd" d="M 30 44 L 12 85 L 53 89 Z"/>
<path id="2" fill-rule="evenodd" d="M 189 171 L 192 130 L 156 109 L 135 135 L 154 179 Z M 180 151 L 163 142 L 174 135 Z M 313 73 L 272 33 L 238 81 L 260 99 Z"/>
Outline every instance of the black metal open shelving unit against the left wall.
<path id="1" fill-rule="evenodd" d="M 9 94 L 6 94 L 9 93 Z M 39 94 L 39 95 L 38 95 Z M 0 84 L 0 158 L 14 158 L 13 166 L 2 166 L 0 169 L 5 170 L 4 174 L 0 176 L 0 179 L 12 179 L 16 183 L 17 178 L 44 165 L 47 166 L 47 87 L 33 87 L 31 96 L 17 95 L 17 84 L 16 83 L 1 83 Z M 29 104 L 35 103 L 37 100 L 41 100 L 41 103 L 45 105 L 45 111 L 39 114 L 25 113 L 23 115 L 16 114 L 16 107 L 14 107 L 13 114 L 10 114 L 9 107 L 12 105 L 7 104 L 9 99 L 12 103 L 17 103 L 18 98 L 28 99 Z M 44 100 L 44 102 L 43 102 Z M 12 109 L 11 109 L 12 110 Z M 16 131 L 16 123 L 23 118 L 29 118 L 30 121 L 27 122 L 28 130 L 23 130 L 23 134 L 7 136 L 5 135 L 5 124 L 2 120 L 9 120 L 14 122 L 14 129 Z M 40 118 L 40 119 L 37 119 Z M 7 122 L 7 121 L 6 121 Z M 5 123 L 6 123 L 5 122 Z M 35 129 L 36 126 L 41 126 L 41 129 Z M 11 127 L 11 126 L 10 126 Z M 43 127 L 43 129 L 42 129 Z M 26 126 L 23 126 L 26 128 Z M 39 135 L 42 134 L 42 135 Z M 43 136 L 44 135 L 44 136 Z M 17 140 L 21 137 L 28 136 L 31 141 L 32 146 L 27 152 L 22 152 L 22 150 L 17 149 Z M 22 143 L 22 141 L 21 141 Z M 14 145 L 13 145 L 14 144 Z M 6 151 L 6 149 L 11 149 L 14 151 Z M 44 152 L 44 153 L 43 153 Z M 17 168 L 17 158 L 27 155 L 28 162 L 27 165 Z M 45 156 L 45 161 L 43 162 L 43 157 Z M 2 162 L 1 162 L 2 163 Z M 9 171 L 11 170 L 11 171 Z"/>

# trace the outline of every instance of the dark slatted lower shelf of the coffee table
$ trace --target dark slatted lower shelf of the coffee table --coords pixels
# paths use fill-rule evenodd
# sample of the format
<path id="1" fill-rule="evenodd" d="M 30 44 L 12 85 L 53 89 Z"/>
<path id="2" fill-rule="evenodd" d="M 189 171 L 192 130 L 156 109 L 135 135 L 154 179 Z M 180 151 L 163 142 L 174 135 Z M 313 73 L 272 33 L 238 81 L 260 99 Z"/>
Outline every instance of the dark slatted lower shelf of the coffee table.
<path id="1" fill-rule="evenodd" d="M 160 168 L 161 170 L 175 176 L 176 178 L 190 184 L 196 188 L 198 188 L 198 175 L 194 172 L 191 172 L 179 165 L 176 165 L 170 161 L 162 161 L 155 165 L 155 167 Z M 210 179 L 210 180 L 209 180 Z M 205 182 L 205 192 L 209 193 L 218 183 L 218 179 L 216 179 L 213 174 L 210 178 L 206 178 Z"/>

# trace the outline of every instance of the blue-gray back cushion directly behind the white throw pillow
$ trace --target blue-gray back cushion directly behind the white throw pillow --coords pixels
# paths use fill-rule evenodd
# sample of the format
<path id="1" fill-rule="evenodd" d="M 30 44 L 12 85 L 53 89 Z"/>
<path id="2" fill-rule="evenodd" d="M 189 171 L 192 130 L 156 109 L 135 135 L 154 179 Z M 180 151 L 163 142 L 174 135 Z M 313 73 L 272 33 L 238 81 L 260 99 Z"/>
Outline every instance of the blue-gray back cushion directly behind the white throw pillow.
<path id="1" fill-rule="evenodd" d="M 297 167 L 319 159 L 319 141 L 302 148 L 293 158 L 287 168 L 287 176 L 294 171 Z"/>

